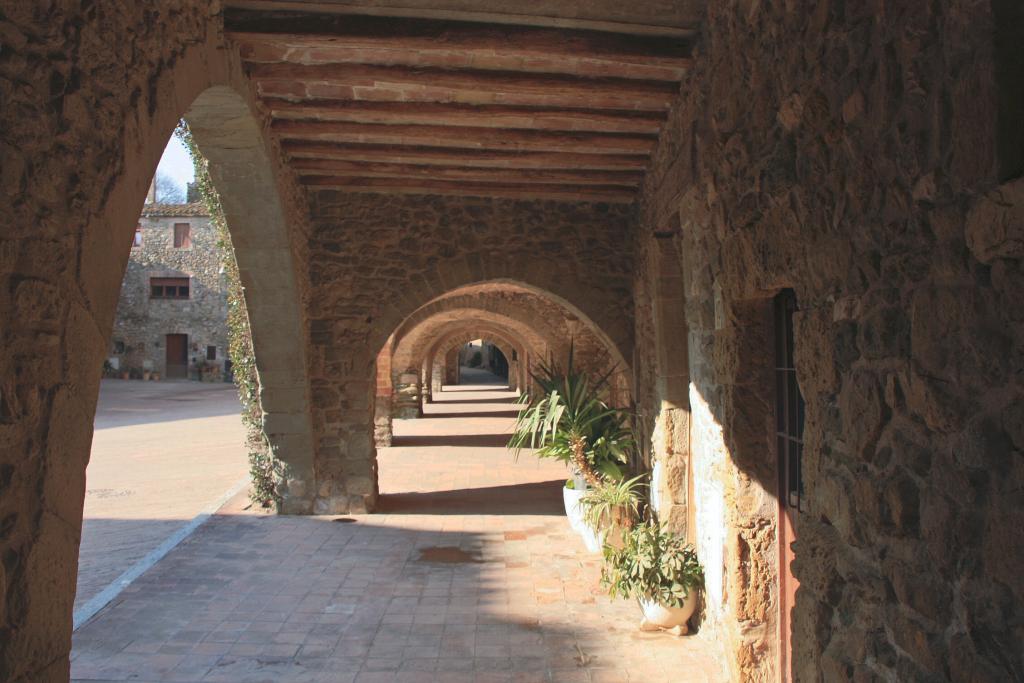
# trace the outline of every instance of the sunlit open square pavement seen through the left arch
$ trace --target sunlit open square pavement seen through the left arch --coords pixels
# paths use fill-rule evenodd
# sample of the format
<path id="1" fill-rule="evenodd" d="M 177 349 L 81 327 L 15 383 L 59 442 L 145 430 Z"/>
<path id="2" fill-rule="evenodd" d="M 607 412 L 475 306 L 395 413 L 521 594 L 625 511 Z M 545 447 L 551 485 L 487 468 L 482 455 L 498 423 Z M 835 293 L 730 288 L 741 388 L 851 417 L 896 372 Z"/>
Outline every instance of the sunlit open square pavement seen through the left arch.
<path id="1" fill-rule="evenodd" d="M 76 609 L 246 477 L 239 413 L 231 384 L 103 380 Z"/>

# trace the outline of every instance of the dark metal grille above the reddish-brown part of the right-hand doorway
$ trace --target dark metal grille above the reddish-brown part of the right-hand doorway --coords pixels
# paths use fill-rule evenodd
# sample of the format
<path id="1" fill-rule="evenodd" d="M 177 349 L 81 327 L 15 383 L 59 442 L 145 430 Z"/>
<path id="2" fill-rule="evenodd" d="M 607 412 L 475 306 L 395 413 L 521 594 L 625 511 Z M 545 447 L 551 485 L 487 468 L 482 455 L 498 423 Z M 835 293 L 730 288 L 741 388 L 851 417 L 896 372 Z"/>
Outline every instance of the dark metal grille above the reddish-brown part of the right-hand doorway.
<path id="1" fill-rule="evenodd" d="M 785 505 L 803 511 L 804 397 L 797 385 L 793 352 L 793 314 L 797 310 L 793 290 L 783 290 L 775 297 L 775 438 L 779 495 Z"/>

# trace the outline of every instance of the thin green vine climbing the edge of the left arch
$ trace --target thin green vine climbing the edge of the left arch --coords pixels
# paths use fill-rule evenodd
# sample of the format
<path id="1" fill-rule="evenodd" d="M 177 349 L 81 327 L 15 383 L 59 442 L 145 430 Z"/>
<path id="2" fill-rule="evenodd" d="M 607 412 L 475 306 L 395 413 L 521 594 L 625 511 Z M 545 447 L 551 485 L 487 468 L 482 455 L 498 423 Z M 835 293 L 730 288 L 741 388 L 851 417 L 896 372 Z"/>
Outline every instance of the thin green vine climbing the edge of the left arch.
<path id="1" fill-rule="evenodd" d="M 227 285 L 227 353 L 242 401 L 242 422 L 246 427 L 246 450 L 249 453 L 249 473 L 252 478 L 249 498 L 264 508 L 276 506 L 280 502 L 276 480 L 282 468 L 273 458 L 273 452 L 263 432 L 263 409 L 259 400 L 259 378 L 256 375 L 252 331 L 249 328 L 249 313 L 246 310 L 231 236 L 224 219 L 224 209 L 220 204 L 220 195 L 210 178 L 209 162 L 196 145 L 188 124 L 179 122 L 174 134 L 191 155 L 193 167 L 196 169 L 196 187 L 217 233 L 220 264 Z"/>

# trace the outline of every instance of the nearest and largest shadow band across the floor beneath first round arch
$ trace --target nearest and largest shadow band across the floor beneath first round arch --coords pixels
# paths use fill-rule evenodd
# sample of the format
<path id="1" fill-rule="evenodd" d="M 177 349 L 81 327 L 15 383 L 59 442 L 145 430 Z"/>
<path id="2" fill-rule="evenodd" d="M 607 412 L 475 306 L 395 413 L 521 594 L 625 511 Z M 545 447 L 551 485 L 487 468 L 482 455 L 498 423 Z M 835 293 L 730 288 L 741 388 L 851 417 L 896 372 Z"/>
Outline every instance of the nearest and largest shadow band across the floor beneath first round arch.
<path id="1" fill-rule="evenodd" d="M 561 515 L 562 479 L 423 494 L 383 494 L 377 511 L 407 515 Z"/>

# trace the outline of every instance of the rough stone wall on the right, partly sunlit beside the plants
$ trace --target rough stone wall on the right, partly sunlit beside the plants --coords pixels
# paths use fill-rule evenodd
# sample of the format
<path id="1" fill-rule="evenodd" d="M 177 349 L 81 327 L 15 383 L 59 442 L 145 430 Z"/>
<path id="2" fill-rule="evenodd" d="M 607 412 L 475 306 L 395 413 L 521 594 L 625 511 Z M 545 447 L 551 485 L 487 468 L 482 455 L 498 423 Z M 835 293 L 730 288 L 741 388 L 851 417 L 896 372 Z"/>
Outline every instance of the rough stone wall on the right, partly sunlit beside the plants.
<path id="1" fill-rule="evenodd" d="M 736 680 L 777 675 L 782 288 L 807 401 L 797 680 L 1024 677 L 1024 222 L 1019 184 L 997 187 L 1021 156 L 996 147 L 1019 141 L 1004 117 L 1020 80 L 993 65 L 993 7 L 1020 36 L 1008 6 L 709 5 L 642 222 L 682 255 L 703 628 Z"/>

